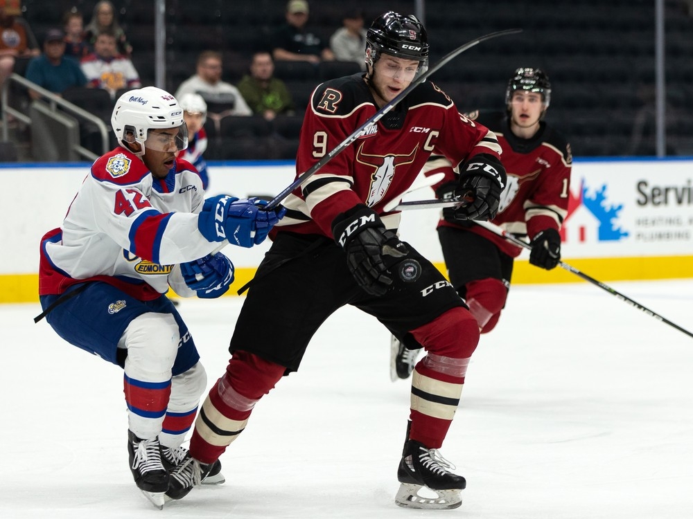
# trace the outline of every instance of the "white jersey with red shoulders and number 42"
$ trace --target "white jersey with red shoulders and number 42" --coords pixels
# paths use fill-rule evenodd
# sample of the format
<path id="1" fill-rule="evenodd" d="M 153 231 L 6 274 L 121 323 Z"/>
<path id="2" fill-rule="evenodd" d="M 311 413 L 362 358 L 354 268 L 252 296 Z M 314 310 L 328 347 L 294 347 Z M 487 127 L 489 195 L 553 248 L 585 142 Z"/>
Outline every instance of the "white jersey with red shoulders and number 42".
<path id="1" fill-rule="evenodd" d="M 124 148 L 91 166 L 67 216 L 42 239 L 40 295 L 59 294 L 85 281 L 103 281 L 141 300 L 185 286 L 177 264 L 211 253 L 218 244 L 198 230 L 200 176 L 177 159 L 165 179 L 155 179 Z"/>

